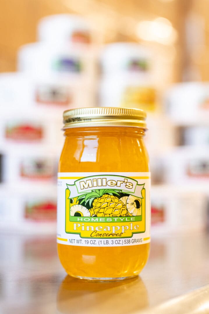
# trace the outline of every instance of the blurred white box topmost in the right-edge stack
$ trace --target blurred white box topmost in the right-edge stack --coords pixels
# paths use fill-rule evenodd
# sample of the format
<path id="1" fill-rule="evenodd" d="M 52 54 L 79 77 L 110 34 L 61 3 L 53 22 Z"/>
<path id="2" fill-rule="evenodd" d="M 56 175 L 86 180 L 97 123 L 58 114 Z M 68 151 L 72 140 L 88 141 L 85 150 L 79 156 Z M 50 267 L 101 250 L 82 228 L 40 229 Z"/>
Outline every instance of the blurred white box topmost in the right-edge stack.
<path id="1" fill-rule="evenodd" d="M 166 110 L 175 122 L 208 122 L 209 84 L 201 82 L 174 85 L 166 94 Z"/>

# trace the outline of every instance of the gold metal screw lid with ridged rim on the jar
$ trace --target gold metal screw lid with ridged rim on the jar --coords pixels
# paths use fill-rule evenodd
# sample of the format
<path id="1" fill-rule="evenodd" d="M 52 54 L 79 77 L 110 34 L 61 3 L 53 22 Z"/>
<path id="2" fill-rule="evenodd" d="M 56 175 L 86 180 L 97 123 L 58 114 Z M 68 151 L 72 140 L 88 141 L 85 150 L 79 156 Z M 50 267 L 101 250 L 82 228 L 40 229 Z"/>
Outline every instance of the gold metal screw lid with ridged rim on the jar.
<path id="1" fill-rule="evenodd" d="M 146 129 L 146 112 L 134 108 L 96 107 L 63 112 L 63 130 L 72 127 L 141 127 Z"/>

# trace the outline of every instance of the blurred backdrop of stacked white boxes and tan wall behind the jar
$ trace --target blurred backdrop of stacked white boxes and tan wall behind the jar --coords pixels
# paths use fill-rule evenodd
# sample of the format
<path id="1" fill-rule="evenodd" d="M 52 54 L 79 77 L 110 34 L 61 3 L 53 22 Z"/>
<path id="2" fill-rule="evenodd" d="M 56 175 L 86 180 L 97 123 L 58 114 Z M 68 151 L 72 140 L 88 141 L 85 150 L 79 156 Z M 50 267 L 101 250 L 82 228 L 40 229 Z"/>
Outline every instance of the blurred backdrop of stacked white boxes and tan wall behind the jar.
<path id="1" fill-rule="evenodd" d="M 0 1 L 0 231 L 56 234 L 67 108 L 147 112 L 152 236 L 206 230 L 208 0 Z"/>

